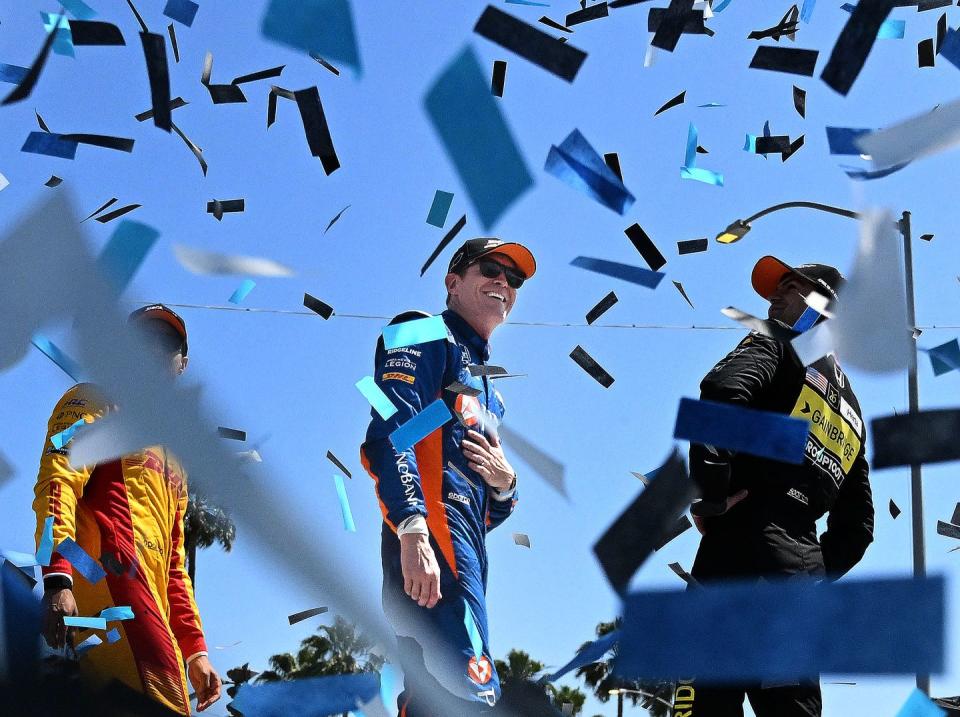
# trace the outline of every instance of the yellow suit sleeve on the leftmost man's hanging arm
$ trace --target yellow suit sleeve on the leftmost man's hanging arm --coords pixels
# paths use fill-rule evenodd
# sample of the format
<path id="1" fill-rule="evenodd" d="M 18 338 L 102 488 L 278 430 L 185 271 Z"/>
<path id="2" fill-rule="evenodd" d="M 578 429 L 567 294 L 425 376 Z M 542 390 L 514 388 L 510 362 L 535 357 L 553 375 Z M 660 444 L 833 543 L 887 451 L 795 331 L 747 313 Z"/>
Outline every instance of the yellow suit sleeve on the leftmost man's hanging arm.
<path id="1" fill-rule="evenodd" d="M 53 409 L 47 423 L 47 435 L 43 441 L 40 470 L 34 486 L 33 511 L 37 517 L 36 542 L 39 546 L 43 525 L 53 516 L 53 544 L 59 545 L 64 538 L 77 537 L 77 501 L 83 496 L 84 487 L 93 472 L 93 466 L 74 467 L 68 458 L 69 444 L 57 449 L 50 438 L 78 420 L 92 423 L 104 410 L 99 399 L 85 384 L 78 384 L 67 391 Z M 96 556 L 94 556 L 96 557 Z M 59 553 L 53 553 L 49 566 L 43 574 L 73 575 L 70 563 Z"/>

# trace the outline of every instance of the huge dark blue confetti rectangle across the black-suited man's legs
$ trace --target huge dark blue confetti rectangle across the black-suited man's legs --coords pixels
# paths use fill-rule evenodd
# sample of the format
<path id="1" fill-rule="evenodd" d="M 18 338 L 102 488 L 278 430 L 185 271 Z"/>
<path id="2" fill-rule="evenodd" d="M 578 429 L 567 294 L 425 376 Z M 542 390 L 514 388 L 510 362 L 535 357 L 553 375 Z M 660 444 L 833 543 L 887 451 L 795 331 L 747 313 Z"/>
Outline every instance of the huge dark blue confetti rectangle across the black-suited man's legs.
<path id="1" fill-rule="evenodd" d="M 943 577 L 935 576 L 633 593 L 624 601 L 614 672 L 646 679 L 696 675 L 707 684 L 808 679 L 821 672 L 939 673 L 944 589 Z"/>

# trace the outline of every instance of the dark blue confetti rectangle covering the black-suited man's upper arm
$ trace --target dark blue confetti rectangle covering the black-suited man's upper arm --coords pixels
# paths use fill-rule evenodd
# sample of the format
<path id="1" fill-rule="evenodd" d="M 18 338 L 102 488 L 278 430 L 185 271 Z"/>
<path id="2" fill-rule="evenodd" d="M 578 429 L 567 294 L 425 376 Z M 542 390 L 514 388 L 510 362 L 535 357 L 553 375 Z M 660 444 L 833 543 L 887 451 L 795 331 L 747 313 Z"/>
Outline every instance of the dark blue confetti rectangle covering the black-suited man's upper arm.
<path id="1" fill-rule="evenodd" d="M 673 437 L 799 465 L 809 431 L 809 421 L 781 413 L 681 398 Z"/>

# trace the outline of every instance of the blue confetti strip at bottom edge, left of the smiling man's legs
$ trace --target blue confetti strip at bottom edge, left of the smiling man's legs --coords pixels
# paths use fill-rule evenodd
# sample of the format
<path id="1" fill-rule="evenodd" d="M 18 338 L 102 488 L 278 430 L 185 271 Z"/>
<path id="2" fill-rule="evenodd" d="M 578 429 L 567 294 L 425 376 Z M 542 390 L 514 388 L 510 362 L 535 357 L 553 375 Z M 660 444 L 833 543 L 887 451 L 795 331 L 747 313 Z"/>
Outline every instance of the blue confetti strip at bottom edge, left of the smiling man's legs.
<path id="1" fill-rule="evenodd" d="M 231 705 L 248 715 L 330 715 L 356 710 L 377 696 L 376 673 L 305 677 L 253 685 L 237 692 Z"/>

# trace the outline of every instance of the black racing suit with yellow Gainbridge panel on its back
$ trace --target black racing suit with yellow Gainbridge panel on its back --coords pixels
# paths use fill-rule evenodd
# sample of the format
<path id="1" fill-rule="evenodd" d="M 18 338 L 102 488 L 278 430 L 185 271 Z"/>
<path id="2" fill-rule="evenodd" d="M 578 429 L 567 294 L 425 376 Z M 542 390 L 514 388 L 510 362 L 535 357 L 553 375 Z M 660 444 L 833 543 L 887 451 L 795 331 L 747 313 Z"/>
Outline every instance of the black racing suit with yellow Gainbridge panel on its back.
<path id="1" fill-rule="evenodd" d="M 811 424 L 800 465 L 690 446 L 690 474 L 705 504 L 748 491 L 726 513 L 703 518 L 693 576 L 701 583 L 791 575 L 837 579 L 856 565 L 873 540 L 873 501 L 860 405 L 834 357 L 805 368 L 788 344 L 752 332 L 707 374 L 700 397 Z M 816 521 L 824 514 L 827 530 L 818 540 Z M 757 717 L 821 711 L 818 681 L 736 687 L 694 682 L 684 689 L 693 699 L 684 699 L 682 709 L 676 704 L 675 717 L 741 717 L 745 693 Z"/>

